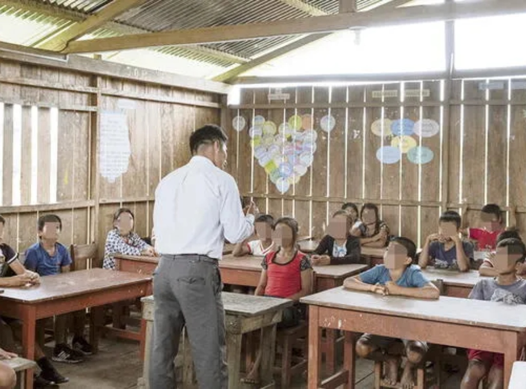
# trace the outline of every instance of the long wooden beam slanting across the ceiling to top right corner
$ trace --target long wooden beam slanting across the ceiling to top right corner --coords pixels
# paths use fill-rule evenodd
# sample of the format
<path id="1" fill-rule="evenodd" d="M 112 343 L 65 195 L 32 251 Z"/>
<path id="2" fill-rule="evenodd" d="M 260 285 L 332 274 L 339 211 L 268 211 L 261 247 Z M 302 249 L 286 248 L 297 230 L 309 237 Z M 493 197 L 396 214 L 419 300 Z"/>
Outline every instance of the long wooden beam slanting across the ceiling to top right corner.
<path id="1" fill-rule="evenodd" d="M 246 40 L 270 36 L 327 33 L 353 27 L 378 27 L 414 22 L 438 22 L 468 17 L 505 15 L 526 12 L 524 0 L 484 0 L 476 3 L 446 3 L 316 16 L 267 23 L 217 26 L 132 36 L 73 41 L 66 53 L 102 52 L 155 47 Z"/>

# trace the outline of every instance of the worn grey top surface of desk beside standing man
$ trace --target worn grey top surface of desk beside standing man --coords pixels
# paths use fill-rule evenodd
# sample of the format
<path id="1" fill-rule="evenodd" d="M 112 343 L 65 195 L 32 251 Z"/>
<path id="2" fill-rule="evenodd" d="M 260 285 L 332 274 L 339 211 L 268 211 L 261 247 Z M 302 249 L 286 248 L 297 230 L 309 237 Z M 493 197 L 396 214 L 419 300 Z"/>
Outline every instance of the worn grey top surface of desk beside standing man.
<path id="1" fill-rule="evenodd" d="M 236 316 L 258 316 L 267 312 L 285 309 L 292 306 L 294 301 L 266 296 L 245 295 L 243 293 L 222 292 L 221 297 L 226 314 Z M 141 298 L 145 303 L 153 303 L 154 297 Z"/>

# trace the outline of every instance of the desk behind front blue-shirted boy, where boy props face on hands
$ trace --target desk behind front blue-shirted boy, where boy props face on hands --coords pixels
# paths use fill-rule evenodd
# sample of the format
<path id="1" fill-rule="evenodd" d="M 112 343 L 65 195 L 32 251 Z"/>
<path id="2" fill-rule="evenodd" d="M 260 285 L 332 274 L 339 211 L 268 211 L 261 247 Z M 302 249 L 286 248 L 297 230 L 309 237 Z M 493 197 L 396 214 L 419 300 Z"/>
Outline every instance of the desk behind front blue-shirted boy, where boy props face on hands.
<path id="1" fill-rule="evenodd" d="M 468 298 L 471 289 L 481 279 L 488 277 L 481 277 L 476 270 L 469 270 L 461 272 L 458 270 L 435 269 L 427 267 L 422 270 L 424 276 L 430 281 L 441 280 L 444 285 L 444 295 L 449 297 Z"/>

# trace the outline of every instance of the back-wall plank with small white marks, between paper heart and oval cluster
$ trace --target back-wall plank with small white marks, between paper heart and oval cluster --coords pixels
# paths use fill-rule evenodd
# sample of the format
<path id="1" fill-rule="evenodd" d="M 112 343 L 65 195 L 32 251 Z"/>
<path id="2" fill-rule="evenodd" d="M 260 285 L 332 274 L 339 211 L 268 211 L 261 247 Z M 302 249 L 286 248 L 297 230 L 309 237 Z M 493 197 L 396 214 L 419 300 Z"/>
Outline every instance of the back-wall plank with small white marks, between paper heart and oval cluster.
<path id="1" fill-rule="evenodd" d="M 363 105 L 365 88 L 349 86 L 349 102 Z M 348 109 L 347 131 L 347 198 L 362 198 L 364 111 L 362 107 Z M 370 131 L 365 130 L 367 133 Z"/>

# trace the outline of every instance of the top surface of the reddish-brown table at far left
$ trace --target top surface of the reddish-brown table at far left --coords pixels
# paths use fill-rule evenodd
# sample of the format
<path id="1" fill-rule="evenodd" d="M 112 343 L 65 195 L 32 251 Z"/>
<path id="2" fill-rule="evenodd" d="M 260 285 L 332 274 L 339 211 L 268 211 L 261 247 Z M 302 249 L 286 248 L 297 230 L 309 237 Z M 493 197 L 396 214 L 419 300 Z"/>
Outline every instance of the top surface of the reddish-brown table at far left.
<path id="1" fill-rule="evenodd" d="M 106 269 L 76 270 L 56 276 L 41 277 L 41 284 L 5 288 L 0 301 L 11 300 L 35 304 L 58 298 L 73 297 L 112 287 L 133 285 L 151 280 L 151 276 Z M 1 303 L 1 302 L 0 302 Z"/>

